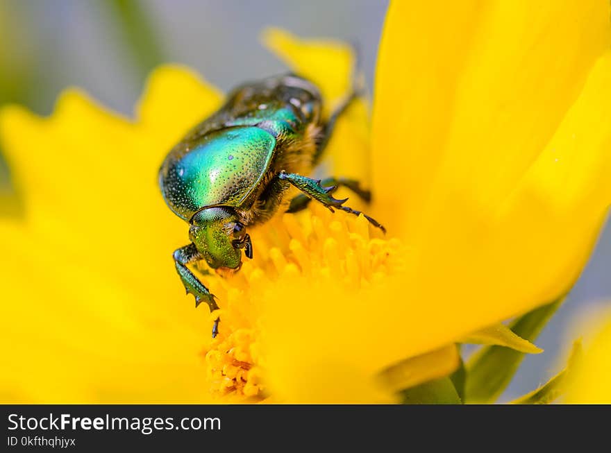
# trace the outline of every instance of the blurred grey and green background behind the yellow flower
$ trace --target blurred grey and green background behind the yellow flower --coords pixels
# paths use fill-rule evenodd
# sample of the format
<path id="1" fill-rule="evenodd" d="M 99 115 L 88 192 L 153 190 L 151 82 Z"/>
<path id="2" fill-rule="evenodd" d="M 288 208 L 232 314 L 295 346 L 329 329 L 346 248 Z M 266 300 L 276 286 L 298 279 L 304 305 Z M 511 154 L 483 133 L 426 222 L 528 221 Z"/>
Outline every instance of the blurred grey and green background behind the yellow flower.
<path id="1" fill-rule="evenodd" d="M 0 105 L 47 115 L 62 89 L 78 86 L 129 116 L 162 62 L 188 65 L 226 90 L 285 71 L 259 43 L 265 26 L 357 43 L 371 87 L 386 7 L 385 0 L 0 0 Z M 19 215 L 18 199 L 0 149 L 0 215 Z M 539 336 L 545 352 L 526 357 L 502 401 L 560 369 L 569 326 L 611 300 L 610 267 L 608 223 L 569 300 Z"/>

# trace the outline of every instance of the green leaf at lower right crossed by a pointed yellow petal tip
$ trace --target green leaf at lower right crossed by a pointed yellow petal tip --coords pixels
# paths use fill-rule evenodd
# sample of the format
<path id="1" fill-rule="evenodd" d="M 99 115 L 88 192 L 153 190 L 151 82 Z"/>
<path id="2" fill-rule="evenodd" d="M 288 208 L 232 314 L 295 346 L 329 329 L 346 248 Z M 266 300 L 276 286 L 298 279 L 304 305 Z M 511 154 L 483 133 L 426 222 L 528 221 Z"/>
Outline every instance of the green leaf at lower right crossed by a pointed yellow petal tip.
<path id="1" fill-rule="evenodd" d="M 534 341 L 564 298 L 544 305 L 517 318 L 509 328 L 528 341 Z M 480 348 L 467 361 L 467 377 L 464 386 L 464 402 L 491 403 L 503 393 L 517 371 L 524 352 L 504 346 L 491 345 Z"/>

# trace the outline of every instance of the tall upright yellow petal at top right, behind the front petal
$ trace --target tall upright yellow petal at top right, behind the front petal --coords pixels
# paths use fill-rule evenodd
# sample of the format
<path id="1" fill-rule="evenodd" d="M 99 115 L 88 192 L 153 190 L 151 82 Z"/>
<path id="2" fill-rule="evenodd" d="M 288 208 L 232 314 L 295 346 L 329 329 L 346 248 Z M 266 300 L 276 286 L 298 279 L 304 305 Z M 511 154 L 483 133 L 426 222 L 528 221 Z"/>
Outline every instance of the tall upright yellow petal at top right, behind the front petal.
<path id="1" fill-rule="evenodd" d="M 391 3 L 374 93 L 374 185 L 406 237 L 437 234 L 428 208 L 450 214 L 460 196 L 494 209 L 507 196 L 608 49 L 609 17 L 605 0 Z"/>

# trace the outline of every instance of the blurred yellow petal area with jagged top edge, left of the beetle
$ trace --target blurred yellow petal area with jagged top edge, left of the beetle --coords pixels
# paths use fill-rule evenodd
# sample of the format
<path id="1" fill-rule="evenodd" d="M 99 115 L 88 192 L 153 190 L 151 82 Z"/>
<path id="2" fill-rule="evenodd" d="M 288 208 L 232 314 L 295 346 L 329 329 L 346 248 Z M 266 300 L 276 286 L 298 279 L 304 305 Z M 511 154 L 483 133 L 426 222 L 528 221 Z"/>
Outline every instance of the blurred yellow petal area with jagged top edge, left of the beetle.
<path id="1" fill-rule="evenodd" d="M 210 323 L 174 275 L 171 252 L 187 228 L 156 180 L 174 139 L 164 125 L 180 135 L 218 101 L 168 68 L 153 76 L 137 122 L 75 90 L 49 119 L 2 110 L 3 150 L 26 202 L 24 222 L 0 223 L 3 400 L 208 399 Z"/>

